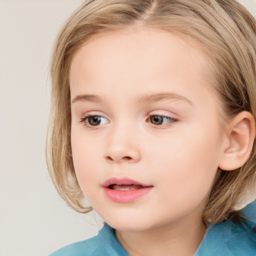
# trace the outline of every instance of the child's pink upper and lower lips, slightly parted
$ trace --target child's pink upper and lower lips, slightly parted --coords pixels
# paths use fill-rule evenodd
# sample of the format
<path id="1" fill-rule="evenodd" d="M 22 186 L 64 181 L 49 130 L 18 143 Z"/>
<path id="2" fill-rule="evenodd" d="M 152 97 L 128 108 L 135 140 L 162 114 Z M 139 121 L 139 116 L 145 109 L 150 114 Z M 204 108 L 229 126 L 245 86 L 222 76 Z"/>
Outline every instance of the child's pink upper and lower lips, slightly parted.
<path id="1" fill-rule="evenodd" d="M 117 184 L 117 185 L 141 185 L 143 188 L 139 189 L 130 189 L 130 190 L 113 190 L 109 188 L 109 185 Z M 105 196 L 114 202 L 132 202 L 148 193 L 152 185 L 143 184 L 141 182 L 129 179 L 129 178 L 109 178 L 103 184 L 103 191 Z"/>

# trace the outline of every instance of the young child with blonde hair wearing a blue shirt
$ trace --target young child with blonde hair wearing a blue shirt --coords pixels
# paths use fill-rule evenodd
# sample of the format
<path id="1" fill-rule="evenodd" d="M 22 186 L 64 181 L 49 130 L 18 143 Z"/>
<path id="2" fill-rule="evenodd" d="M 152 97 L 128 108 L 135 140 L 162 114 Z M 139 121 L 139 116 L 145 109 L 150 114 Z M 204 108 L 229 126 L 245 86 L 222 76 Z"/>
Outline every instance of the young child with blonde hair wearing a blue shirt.
<path id="1" fill-rule="evenodd" d="M 86 0 L 57 37 L 47 163 L 98 235 L 51 255 L 256 255 L 256 22 L 236 0 Z M 84 206 L 84 198 L 91 207 Z"/>

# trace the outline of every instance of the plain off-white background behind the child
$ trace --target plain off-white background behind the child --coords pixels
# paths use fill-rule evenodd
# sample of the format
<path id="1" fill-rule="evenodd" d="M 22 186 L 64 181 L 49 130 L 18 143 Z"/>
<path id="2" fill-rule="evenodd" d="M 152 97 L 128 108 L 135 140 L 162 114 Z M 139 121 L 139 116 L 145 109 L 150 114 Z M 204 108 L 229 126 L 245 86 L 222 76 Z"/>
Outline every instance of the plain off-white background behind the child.
<path id="1" fill-rule="evenodd" d="M 44 256 L 102 220 L 60 200 L 47 173 L 49 56 L 82 0 L 0 0 L 0 256 Z M 256 0 L 243 0 L 256 13 Z"/>

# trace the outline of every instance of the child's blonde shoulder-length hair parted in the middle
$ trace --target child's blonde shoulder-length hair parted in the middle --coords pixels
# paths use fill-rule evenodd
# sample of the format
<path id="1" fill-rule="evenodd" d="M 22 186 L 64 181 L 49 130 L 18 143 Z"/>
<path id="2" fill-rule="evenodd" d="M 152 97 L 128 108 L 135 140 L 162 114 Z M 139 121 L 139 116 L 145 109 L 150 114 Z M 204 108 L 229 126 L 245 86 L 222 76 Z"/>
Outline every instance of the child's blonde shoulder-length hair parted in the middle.
<path id="1" fill-rule="evenodd" d="M 60 196 L 79 212 L 83 205 L 70 146 L 69 66 L 75 51 L 102 31 L 136 25 L 167 29 L 194 38 L 212 60 L 223 118 L 246 110 L 256 119 L 256 22 L 236 0 L 86 0 L 68 18 L 52 50 L 51 112 L 47 166 Z M 255 143 L 247 162 L 233 171 L 218 170 L 203 210 L 207 223 L 234 212 L 241 195 L 255 186 Z"/>

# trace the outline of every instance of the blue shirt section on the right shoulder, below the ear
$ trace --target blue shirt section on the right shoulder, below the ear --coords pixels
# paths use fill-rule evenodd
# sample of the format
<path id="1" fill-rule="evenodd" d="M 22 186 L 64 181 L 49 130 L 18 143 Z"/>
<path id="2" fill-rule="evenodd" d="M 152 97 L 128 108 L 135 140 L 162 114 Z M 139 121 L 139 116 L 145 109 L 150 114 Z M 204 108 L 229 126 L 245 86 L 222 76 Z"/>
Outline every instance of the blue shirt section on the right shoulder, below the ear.
<path id="1" fill-rule="evenodd" d="M 194 256 L 255 256 L 256 201 L 240 210 L 239 215 L 240 221 L 229 218 L 209 226 Z"/>

